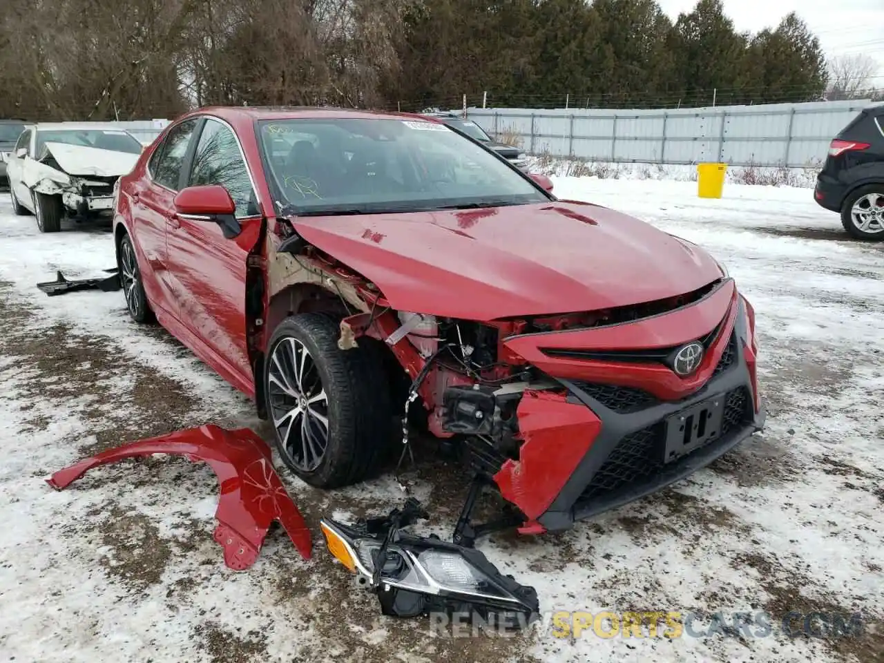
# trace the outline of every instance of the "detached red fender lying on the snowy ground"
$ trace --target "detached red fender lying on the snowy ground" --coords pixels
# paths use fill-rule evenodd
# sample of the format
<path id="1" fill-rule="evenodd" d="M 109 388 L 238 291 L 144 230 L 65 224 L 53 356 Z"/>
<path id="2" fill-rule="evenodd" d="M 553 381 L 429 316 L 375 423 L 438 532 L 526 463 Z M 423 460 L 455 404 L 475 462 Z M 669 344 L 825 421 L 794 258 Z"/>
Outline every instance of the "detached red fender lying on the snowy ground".
<path id="1" fill-rule="evenodd" d="M 312 542 L 307 524 L 273 469 L 270 447 L 249 429 L 225 431 L 208 425 L 130 442 L 61 469 L 46 483 L 60 491 L 90 469 L 154 453 L 204 461 L 217 475 L 221 497 L 214 538 L 224 548 L 227 567 L 241 571 L 252 566 L 274 521 L 309 560 Z"/>

